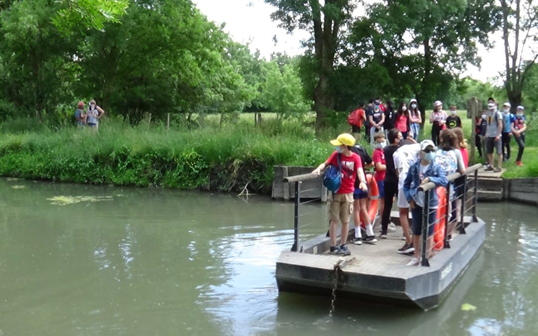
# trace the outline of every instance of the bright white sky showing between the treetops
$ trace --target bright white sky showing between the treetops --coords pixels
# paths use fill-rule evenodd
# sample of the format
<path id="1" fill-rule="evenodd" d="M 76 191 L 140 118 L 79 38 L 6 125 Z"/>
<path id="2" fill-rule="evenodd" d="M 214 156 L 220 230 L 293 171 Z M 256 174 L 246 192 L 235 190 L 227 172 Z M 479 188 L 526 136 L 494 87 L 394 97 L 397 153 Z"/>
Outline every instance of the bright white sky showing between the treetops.
<path id="1" fill-rule="evenodd" d="M 250 43 L 251 51 L 259 49 L 261 56 L 269 58 L 272 52 L 282 52 L 294 56 L 302 54 L 301 40 L 308 38 L 305 31 L 291 34 L 278 27 L 278 22 L 271 20 L 274 8 L 263 0 L 193 0 L 200 11 L 217 25 L 225 23 L 224 31 L 233 40 L 246 44 Z M 277 44 L 273 37 L 276 35 Z M 478 56 L 482 58 L 480 68 L 469 66 L 462 76 L 470 76 L 480 81 L 494 82 L 505 65 L 502 35 L 493 34 L 494 47 L 480 47 Z"/>

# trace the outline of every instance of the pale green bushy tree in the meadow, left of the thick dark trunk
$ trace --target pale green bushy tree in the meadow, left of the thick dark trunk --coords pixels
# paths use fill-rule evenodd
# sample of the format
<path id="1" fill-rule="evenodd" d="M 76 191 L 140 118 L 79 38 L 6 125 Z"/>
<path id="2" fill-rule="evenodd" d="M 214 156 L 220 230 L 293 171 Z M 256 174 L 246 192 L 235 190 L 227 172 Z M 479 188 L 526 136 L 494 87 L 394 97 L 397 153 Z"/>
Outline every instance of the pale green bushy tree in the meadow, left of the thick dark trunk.
<path id="1" fill-rule="evenodd" d="M 302 95 L 302 84 L 293 66 L 284 65 L 282 72 L 276 62 L 266 65 L 267 78 L 263 85 L 263 102 L 277 118 L 300 117 L 310 111 L 310 105 Z"/>

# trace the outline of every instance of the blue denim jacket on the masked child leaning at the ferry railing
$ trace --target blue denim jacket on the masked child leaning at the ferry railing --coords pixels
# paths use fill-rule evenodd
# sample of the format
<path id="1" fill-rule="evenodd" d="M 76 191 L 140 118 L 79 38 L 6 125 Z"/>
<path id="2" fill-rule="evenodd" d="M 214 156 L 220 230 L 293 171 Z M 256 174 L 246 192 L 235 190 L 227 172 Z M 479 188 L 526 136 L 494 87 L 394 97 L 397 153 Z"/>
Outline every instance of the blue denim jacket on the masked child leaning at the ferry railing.
<path id="1" fill-rule="evenodd" d="M 416 162 L 409 168 L 407 177 L 404 182 L 404 195 L 407 202 L 416 201 L 416 195 L 420 187 L 420 161 Z M 435 183 L 437 187 L 446 187 L 448 185 L 447 175 L 444 174 L 440 165 L 431 164 L 424 174 L 424 178 L 428 177 L 430 182 Z M 439 199 L 437 198 L 437 192 L 430 192 L 430 200 L 428 206 L 430 209 L 437 208 L 439 205 Z M 426 200 L 424 200 L 426 201 Z"/>

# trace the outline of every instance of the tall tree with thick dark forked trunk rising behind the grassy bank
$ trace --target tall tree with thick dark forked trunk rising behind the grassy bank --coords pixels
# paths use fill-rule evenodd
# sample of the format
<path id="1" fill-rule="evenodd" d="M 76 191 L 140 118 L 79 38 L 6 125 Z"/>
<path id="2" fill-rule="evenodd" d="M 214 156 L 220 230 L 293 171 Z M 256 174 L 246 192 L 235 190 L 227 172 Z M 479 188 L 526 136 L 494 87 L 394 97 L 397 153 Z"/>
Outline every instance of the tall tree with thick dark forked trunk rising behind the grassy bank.
<path id="1" fill-rule="evenodd" d="M 273 20 L 288 32 L 302 29 L 312 35 L 317 83 L 314 90 L 316 128 L 325 123 L 325 112 L 334 109 L 335 97 L 330 78 L 334 72 L 336 52 L 341 41 L 341 29 L 350 18 L 355 4 L 350 0 L 265 0 L 277 8 Z"/>

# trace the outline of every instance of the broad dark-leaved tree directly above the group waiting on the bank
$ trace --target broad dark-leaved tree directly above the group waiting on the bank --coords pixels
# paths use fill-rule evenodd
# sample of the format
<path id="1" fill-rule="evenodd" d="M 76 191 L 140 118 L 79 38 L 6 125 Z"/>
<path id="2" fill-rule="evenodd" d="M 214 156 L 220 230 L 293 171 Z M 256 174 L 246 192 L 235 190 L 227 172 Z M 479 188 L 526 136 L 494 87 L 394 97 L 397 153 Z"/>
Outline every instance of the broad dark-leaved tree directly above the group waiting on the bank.
<path id="1" fill-rule="evenodd" d="M 489 46 L 496 10 L 493 0 L 375 3 L 353 24 L 344 62 L 383 66 L 392 90 L 409 88 L 424 111 L 448 96 L 455 74 L 478 65 L 477 44 Z"/>

